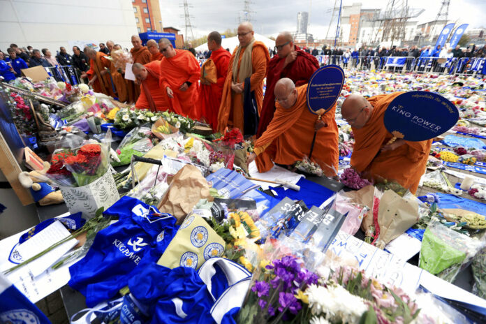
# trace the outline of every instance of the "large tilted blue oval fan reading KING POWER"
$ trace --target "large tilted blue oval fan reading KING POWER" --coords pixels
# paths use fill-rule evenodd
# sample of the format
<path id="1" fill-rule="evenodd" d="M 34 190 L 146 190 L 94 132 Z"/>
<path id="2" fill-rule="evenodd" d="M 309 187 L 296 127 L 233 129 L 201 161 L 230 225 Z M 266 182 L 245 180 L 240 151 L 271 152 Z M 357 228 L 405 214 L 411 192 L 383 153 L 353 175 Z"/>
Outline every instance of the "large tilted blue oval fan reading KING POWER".
<path id="1" fill-rule="evenodd" d="M 459 111 L 439 94 L 410 91 L 388 105 L 383 122 L 396 138 L 411 142 L 435 138 L 457 123 Z"/>

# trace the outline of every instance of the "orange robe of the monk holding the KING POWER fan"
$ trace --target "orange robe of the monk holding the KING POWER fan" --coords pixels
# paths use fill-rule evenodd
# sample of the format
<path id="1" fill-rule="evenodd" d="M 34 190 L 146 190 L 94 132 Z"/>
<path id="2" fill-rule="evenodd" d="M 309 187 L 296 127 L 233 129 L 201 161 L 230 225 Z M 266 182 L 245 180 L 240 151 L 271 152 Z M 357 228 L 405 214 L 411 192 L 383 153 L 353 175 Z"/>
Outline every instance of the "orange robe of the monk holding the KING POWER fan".
<path id="1" fill-rule="evenodd" d="M 425 172 L 432 140 L 406 141 L 392 151 L 380 152 L 381 147 L 393 137 L 383 124 L 383 116 L 392 100 L 402 93 L 381 94 L 368 99 L 374 108 L 371 117 L 363 128 L 352 128 L 355 145 L 351 166 L 370 178 L 395 180 L 415 194 Z"/>

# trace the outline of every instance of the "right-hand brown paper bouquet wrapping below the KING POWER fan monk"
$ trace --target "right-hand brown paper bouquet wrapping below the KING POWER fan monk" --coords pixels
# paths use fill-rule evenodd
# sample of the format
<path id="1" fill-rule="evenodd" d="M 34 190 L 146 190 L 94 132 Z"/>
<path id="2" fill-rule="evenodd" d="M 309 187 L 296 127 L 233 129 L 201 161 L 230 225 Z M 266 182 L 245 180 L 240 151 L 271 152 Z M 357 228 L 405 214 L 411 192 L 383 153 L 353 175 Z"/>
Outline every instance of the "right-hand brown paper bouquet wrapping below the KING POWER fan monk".
<path id="1" fill-rule="evenodd" d="M 418 202 L 402 198 L 395 191 L 383 193 L 378 209 L 380 238 L 376 246 L 384 249 L 391 240 L 405 233 L 418 222 Z"/>

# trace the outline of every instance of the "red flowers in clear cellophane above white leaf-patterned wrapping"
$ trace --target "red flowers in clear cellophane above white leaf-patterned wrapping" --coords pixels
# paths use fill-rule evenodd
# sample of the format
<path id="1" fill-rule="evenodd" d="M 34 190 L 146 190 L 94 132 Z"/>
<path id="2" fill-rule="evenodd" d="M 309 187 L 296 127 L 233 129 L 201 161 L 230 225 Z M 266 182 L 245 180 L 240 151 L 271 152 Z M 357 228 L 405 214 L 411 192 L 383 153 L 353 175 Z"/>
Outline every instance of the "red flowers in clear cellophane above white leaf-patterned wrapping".
<path id="1" fill-rule="evenodd" d="M 89 140 L 80 147 L 54 151 L 45 176 L 59 186 L 86 186 L 108 172 L 111 131 L 103 142 Z"/>

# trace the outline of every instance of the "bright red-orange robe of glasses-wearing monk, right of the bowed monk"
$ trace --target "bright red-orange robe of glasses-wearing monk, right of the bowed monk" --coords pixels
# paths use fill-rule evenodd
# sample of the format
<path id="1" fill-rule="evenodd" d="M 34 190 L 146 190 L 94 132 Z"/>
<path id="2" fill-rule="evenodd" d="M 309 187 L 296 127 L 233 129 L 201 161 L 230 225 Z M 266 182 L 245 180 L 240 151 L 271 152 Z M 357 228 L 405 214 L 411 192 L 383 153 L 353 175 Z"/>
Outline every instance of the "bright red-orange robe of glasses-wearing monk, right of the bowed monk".
<path id="1" fill-rule="evenodd" d="M 167 87 L 172 89 L 174 98 L 169 98 L 169 104 L 173 112 L 195 118 L 201 68 L 191 52 L 186 50 L 175 50 L 175 52 L 174 57 L 164 57 L 161 60 L 160 87 L 165 92 Z M 179 88 L 184 82 L 191 82 L 191 85 L 186 91 L 180 91 Z"/>

